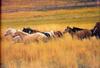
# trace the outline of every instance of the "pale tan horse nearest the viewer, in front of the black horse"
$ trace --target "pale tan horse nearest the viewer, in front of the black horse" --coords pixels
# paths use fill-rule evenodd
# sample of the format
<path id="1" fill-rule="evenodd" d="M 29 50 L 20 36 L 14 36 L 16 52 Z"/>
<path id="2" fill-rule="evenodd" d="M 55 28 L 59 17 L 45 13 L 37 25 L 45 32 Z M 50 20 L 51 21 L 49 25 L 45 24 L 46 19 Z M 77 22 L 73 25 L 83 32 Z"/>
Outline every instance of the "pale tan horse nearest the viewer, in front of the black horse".
<path id="1" fill-rule="evenodd" d="M 16 32 L 15 35 L 18 35 L 22 38 L 22 41 L 25 43 L 28 42 L 39 42 L 39 41 L 43 41 L 43 42 L 47 42 L 48 41 L 48 37 L 46 37 L 44 34 L 37 32 L 34 34 L 26 34 L 25 32 Z"/>

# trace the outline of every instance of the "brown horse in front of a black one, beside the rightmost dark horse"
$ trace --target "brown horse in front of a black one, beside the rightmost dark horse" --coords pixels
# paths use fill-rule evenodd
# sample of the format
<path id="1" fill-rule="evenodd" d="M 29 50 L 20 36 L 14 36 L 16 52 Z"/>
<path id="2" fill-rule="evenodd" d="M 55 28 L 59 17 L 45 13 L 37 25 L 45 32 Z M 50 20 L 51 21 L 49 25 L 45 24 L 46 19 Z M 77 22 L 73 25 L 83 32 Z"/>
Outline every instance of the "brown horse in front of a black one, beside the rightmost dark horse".
<path id="1" fill-rule="evenodd" d="M 88 39 L 90 39 L 90 37 L 91 37 L 91 35 L 92 35 L 92 32 L 91 32 L 91 30 L 88 30 L 88 29 L 79 29 L 78 31 L 76 30 L 74 30 L 73 31 L 73 28 L 71 28 L 71 27 L 67 27 L 65 30 L 64 30 L 64 33 L 65 32 L 68 32 L 71 36 L 72 36 L 72 38 L 74 38 L 74 37 L 76 37 L 76 38 L 78 38 L 78 39 L 85 39 L 85 38 L 88 38 Z"/>

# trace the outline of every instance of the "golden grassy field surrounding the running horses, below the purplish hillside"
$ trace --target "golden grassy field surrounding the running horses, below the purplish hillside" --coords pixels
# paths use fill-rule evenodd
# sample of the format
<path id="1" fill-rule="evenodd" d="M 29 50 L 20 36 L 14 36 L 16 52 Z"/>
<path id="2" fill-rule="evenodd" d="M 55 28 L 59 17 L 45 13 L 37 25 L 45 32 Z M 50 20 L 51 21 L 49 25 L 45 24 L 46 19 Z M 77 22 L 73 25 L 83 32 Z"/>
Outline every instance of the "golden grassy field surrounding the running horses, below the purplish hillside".
<path id="1" fill-rule="evenodd" d="M 100 68 L 100 40 L 95 37 L 81 41 L 65 34 L 47 43 L 11 45 L 3 36 L 9 27 L 63 31 L 67 26 L 91 29 L 97 21 L 100 7 L 2 13 L 2 68 Z"/>

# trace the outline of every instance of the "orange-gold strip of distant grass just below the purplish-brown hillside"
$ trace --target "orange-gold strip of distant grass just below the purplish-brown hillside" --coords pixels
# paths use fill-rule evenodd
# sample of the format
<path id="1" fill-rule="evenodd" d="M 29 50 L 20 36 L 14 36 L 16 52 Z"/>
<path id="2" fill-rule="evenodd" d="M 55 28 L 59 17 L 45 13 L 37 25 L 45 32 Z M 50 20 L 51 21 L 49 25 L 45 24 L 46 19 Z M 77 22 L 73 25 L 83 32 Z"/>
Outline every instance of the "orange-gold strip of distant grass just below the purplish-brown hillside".
<path id="1" fill-rule="evenodd" d="M 92 11 L 91 11 L 92 9 Z M 52 10 L 52 11 L 30 11 L 30 12 L 15 12 L 15 13 L 2 13 L 2 19 L 20 19 L 20 18 L 36 18 L 36 17 L 45 17 L 45 16 L 55 16 L 55 15 L 74 15 L 81 17 L 90 17 L 90 16 L 98 16 L 98 14 L 92 15 L 91 13 L 99 13 L 100 7 L 92 7 L 92 8 L 81 8 L 79 9 L 68 9 L 68 10 Z M 100 14 L 100 13 L 99 13 Z"/>

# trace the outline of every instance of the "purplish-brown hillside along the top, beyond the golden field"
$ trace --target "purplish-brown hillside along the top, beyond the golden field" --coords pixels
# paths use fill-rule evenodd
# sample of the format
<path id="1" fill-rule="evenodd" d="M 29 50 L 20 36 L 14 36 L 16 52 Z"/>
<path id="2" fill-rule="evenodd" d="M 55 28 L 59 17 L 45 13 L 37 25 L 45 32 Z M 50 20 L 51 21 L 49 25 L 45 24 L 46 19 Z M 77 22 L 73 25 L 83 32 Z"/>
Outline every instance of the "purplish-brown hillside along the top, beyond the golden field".
<path id="1" fill-rule="evenodd" d="M 100 4 L 100 3 L 99 3 Z M 96 0 L 2 0 L 2 12 L 97 6 Z"/>

